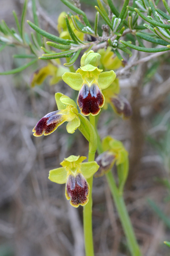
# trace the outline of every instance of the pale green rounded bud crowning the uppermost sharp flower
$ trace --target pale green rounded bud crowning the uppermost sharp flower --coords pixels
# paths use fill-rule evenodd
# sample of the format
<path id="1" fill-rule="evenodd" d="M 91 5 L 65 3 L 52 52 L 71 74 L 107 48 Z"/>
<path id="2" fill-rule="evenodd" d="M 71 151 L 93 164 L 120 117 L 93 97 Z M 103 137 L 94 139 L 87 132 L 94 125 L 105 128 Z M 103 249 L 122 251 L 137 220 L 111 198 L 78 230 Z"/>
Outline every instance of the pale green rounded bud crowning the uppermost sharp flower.
<path id="1" fill-rule="evenodd" d="M 100 54 L 94 51 L 89 51 L 88 53 L 84 53 L 81 57 L 81 67 L 86 66 L 88 64 L 97 67 L 100 63 Z"/>

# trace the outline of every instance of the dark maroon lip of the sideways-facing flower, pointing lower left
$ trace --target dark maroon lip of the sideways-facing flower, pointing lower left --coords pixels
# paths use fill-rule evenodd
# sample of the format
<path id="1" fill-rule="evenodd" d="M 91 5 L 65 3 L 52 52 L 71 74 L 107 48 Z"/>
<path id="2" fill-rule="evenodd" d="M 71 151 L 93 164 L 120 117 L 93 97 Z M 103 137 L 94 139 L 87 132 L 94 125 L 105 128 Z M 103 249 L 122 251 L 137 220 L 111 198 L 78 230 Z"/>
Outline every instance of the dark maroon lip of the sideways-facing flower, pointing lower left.
<path id="1" fill-rule="evenodd" d="M 63 115 L 60 110 L 48 113 L 33 128 L 34 136 L 48 135 L 54 132 L 59 125 L 66 121 L 66 115 Z"/>

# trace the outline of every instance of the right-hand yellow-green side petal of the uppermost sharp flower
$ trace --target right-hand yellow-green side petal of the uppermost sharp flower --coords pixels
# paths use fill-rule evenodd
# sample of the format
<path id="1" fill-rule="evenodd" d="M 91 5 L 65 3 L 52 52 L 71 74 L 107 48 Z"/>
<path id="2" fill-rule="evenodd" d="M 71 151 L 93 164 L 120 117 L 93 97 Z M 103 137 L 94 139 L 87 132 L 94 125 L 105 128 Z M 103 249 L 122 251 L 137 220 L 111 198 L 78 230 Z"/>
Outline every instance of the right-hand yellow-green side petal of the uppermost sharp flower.
<path id="1" fill-rule="evenodd" d="M 100 73 L 98 78 L 98 84 L 101 90 L 104 90 L 109 85 L 111 85 L 115 78 L 116 78 L 116 74 L 114 73 L 113 70 Z"/>

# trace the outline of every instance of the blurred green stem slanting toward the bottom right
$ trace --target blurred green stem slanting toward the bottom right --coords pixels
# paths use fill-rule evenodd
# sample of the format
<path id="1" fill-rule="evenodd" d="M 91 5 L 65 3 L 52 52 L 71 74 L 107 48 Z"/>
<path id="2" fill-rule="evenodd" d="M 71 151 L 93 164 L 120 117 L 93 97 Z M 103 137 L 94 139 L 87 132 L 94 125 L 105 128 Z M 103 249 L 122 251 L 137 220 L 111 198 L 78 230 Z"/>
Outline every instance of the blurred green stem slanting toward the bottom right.
<path id="1" fill-rule="evenodd" d="M 139 245 L 137 239 L 135 238 L 131 220 L 129 218 L 128 211 L 123 199 L 123 196 L 118 193 L 118 189 L 111 171 L 106 174 L 107 182 L 109 188 L 111 189 L 112 196 L 120 217 L 126 239 L 128 241 L 128 246 L 131 251 L 132 256 L 141 256 Z"/>

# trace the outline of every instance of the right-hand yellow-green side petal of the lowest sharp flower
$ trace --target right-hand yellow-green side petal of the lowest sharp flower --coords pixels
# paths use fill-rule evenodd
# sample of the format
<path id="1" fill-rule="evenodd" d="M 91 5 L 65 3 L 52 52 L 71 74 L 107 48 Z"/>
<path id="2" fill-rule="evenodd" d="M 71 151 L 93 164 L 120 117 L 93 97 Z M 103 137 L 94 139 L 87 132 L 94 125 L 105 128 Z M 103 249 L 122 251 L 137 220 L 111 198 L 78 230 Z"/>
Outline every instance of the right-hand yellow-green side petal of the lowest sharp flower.
<path id="1" fill-rule="evenodd" d="M 81 172 L 84 178 L 89 179 L 99 169 L 99 165 L 93 161 L 81 164 Z"/>

